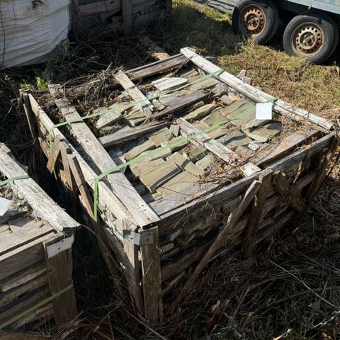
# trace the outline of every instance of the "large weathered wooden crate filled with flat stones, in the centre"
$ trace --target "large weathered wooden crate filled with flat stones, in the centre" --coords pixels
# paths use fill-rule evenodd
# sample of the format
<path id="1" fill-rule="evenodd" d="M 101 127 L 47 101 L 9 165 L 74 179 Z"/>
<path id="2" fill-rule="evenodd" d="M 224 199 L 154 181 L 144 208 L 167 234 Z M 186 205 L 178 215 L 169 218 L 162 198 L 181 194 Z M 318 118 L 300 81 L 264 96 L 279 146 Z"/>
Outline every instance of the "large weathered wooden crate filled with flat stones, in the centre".
<path id="1" fill-rule="evenodd" d="M 176 308 L 209 261 L 222 254 L 246 258 L 305 211 L 337 138 L 329 121 L 188 48 L 118 71 L 114 79 L 117 101 L 91 120 L 81 120 L 89 112 L 78 113 L 56 84 L 50 94 L 59 118 L 31 94 L 26 111 L 47 158 L 48 131 L 60 116 L 73 120 L 54 128 L 53 158 L 65 186 L 71 175 L 77 179 L 77 196 L 90 216 L 94 179 L 115 169 L 97 182 L 100 222 L 92 225 L 111 270 L 108 247 L 135 307 L 154 322 Z M 256 103 L 263 102 L 273 103 L 272 120 L 254 119 Z"/>

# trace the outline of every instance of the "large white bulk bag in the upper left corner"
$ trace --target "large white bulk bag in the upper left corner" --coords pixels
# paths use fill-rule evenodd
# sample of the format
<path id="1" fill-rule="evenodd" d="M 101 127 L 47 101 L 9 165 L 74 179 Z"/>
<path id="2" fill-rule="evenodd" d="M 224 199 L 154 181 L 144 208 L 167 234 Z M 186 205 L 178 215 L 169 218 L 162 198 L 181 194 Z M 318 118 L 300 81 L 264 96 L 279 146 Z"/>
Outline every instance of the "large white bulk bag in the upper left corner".
<path id="1" fill-rule="evenodd" d="M 44 62 L 67 39 L 70 0 L 1 0 L 0 68 Z"/>

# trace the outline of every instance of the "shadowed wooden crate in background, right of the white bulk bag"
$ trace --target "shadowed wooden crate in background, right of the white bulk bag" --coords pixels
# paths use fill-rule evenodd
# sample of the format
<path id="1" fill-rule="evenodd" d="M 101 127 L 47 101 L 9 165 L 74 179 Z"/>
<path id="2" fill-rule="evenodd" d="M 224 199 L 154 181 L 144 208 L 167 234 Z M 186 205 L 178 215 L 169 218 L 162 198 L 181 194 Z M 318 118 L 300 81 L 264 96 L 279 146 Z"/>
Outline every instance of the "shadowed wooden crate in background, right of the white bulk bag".
<path id="1" fill-rule="evenodd" d="M 130 30 L 171 13 L 172 0 L 73 0 L 72 13 L 77 25 L 93 27 L 105 22 L 117 30 Z M 74 23 L 73 23 L 74 24 Z"/>

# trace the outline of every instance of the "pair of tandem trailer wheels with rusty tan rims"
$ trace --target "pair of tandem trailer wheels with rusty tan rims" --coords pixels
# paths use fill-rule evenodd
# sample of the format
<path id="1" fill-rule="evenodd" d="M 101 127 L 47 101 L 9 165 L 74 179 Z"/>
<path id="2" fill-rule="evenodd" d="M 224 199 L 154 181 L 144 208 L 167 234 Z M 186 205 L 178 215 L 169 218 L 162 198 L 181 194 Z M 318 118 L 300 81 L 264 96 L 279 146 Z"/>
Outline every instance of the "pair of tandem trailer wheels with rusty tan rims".
<path id="1" fill-rule="evenodd" d="M 253 38 L 259 44 L 275 35 L 280 22 L 278 8 L 271 0 L 242 0 L 232 13 L 234 32 Z M 336 49 L 339 29 L 327 13 L 307 11 L 295 16 L 283 33 L 288 55 L 303 57 L 318 64 Z"/>

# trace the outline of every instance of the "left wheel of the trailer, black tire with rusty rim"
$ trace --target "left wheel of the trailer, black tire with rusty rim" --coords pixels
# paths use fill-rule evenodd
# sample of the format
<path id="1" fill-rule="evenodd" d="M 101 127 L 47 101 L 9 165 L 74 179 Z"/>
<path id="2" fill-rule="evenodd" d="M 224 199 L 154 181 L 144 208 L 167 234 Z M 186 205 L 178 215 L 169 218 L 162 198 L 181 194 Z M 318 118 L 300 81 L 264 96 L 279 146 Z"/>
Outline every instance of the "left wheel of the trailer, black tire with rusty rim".
<path id="1" fill-rule="evenodd" d="M 271 0 L 241 0 L 232 12 L 234 33 L 253 38 L 259 44 L 273 38 L 278 23 L 278 8 Z"/>

